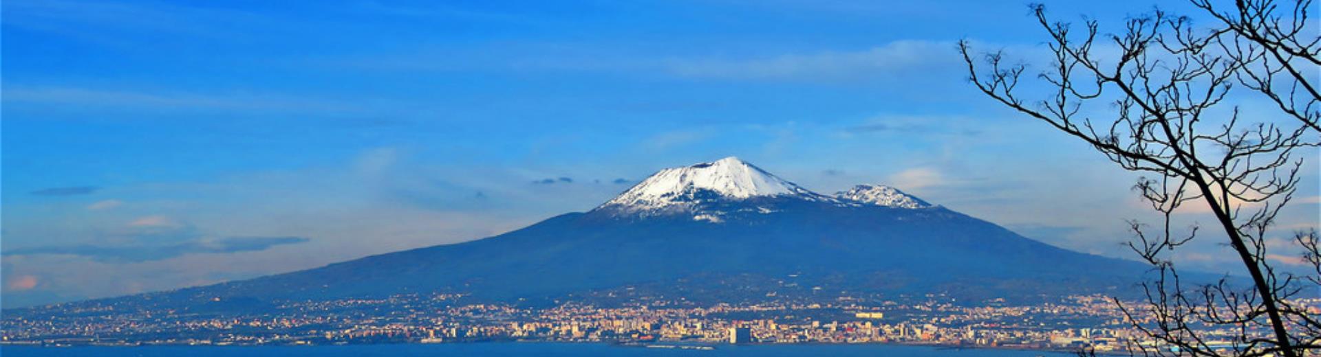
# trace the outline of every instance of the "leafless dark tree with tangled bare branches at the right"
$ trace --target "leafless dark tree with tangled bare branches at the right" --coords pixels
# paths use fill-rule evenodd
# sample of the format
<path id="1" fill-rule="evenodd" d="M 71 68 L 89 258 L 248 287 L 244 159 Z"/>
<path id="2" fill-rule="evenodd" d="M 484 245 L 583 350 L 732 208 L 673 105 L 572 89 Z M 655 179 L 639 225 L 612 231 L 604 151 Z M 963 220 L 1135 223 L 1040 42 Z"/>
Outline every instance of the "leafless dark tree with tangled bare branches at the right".
<path id="1" fill-rule="evenodd" d="M 1239 4 L 1273 11 L 1269 1 Z M 1205 8 L 1214 12 L 1209 4 Z M 1161 220 L 1129 221 L 1135 240 L 1128 246 L 1153 266 L 1153 278 L 1141 285 L 1144 307 L 1118 298 L 1115 303 L 1159 345 L 1131 344 L 1131 350 L 1148 356 L 1321 350 L 1321 323 L 1295 300 L 1304 286 L 1321 286 L 1316 232 L 1295 234 L 1310 252 L 1303 258 L 1317 265 L 1316 275 L 1277 270 L 1267 246 L 1269 228 L 1293 198 L 1299 170 L 1304 158 L 1314 158 L 1312 148 L 1321 133 L 1316 96 L 1299 95 L 1299 88 L 1314 95 L 1308 74 L 1317 70 L 1312 61 L 1318 40 L 1303 37 L 1316 33 L 1299 30 L 1303 25 L 1284 28 L 1280 17 L 1260 13 L 1226 16 L 1227 25 L 1202 32 L 1186 17 L 1156 11 L 1128 20 L 1120 34 L 1103 36 L 1095 21 L 1075 33 L 1070 24 L 1048 20 L 1041 5 L 1033 9 L 1053 54 L 1037 82 L 1029 84 L 1026 65 L 1011 63 L 1000 51 L 974 55 L 966 41 L 959 49 L 982 92 L 1143 174 L 1133 190 Z M 1285 84 L 1283 95 L 1279 83 L 1288 78 L 1293 84 Z M 1240 112 L 1230 96 L 1236 83 L 1276 101 L 1284 116 Z M 1296 157 L 1300 149 L 1304 154 Z M 1197 238 L 1199 229 L 1176 228 L 1173 215 L 1197 208 L 1215 217 L 1214 232 L 1223 232 L 1250 286 L 1180 275 L 1170 252 Z"/>

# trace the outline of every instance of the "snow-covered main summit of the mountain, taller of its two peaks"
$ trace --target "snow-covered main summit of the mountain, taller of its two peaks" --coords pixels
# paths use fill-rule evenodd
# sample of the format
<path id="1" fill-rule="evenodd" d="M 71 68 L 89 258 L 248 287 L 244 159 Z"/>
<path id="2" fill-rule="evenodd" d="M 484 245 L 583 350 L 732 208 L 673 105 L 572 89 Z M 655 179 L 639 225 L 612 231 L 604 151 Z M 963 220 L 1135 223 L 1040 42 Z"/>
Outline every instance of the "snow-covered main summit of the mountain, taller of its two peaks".
<path id="1" fill-rule="evenodd" d="M 690 207 L 705 200 L 741 200 L 757 196 L 828 199 L 781 179 L 736 157 L 671 167 L 647 177 L 601 207 L 658 211 Z"/>

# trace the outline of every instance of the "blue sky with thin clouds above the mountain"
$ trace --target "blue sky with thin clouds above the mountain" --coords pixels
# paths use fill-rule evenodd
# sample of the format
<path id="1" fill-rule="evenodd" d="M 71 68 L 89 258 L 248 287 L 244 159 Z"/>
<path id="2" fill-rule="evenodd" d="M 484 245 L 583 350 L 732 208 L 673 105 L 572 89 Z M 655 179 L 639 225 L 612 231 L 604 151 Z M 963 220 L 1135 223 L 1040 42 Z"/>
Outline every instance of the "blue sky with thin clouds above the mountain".
<path id="1" fill-rule="evenodd" d="M 1046 5 L 1116 29 L 1152 3 Z M 5 306 L 485 237 L 727 155 L 1114 257 L 1149 217 L 964 82 L 960 38 L 1040 54 L 1021 1 L 9 0 L 0 32 Z"/>

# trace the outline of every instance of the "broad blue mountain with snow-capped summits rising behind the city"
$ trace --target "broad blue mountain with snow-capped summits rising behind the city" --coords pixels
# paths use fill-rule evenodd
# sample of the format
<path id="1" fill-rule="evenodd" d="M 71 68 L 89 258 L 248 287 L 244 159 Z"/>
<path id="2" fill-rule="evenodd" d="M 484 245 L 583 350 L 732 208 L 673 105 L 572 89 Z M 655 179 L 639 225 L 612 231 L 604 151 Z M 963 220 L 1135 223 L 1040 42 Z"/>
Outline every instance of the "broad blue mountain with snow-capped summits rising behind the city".
<path id="1" fill-rule="evenodd" d="M 848 291 L 979 299 L 1106 292 L 1144 270 L 1033 241 L 894 188 L 857 187 L 831 198 L 725 158 L 659 171 L 590 212 L 505 234 L 168 298 L 439 291 L 528 302 L 630 291 L 729 302 Z"/>

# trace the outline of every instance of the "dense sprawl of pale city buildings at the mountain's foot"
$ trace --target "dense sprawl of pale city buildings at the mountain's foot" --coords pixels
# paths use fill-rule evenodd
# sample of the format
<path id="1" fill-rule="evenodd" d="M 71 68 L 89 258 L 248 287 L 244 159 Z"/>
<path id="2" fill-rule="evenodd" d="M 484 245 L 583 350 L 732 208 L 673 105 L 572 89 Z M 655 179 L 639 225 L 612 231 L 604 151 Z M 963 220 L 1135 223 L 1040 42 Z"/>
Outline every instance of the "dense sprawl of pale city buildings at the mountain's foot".
<path id="1" fill-rule="evenodd" d="M 1114 300 L 1099 295 L 1036 304 L 996 299 L 976 307 L 943 295 L 707 307 L 659 299 L 552 308 L 462 300 L 462 295 L 441 294 L 304 302 L 244 316 L 82 303 L 54 319 L 36 316 L 58 306 L 8 314 L 0 327 L 4 344 L 46 346 L 560 341 L 711 349 L 719 344 L 881 343 L 1124 352 L 1149 344 Z M 1321 312 L 1321 299 L 1301 303 Z"/>

